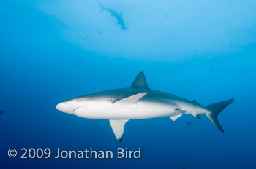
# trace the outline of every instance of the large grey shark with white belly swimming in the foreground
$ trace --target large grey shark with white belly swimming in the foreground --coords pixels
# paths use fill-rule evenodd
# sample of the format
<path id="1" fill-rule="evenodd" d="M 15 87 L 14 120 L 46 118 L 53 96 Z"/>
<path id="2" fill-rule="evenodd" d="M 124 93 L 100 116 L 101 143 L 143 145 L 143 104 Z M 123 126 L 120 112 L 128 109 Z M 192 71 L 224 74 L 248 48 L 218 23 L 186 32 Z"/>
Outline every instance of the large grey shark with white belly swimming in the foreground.
<path id="1" fill-rule="evenodd" d="M 131 119 L 152 119 L 170 117 L 175 122 L 184 114 L 208 119 L 224 133 L 217 116 L 234 99 L 202 106 L 169 93 L 151 90 L 143 72 L 136 76 L 130 87 L 105 90 L 98 93 L 68 99 L 56 105 L 56 109 L 87 119 L 109 119 L 110 126 L 118 141 L 122 141 L 124 127 Z"/>

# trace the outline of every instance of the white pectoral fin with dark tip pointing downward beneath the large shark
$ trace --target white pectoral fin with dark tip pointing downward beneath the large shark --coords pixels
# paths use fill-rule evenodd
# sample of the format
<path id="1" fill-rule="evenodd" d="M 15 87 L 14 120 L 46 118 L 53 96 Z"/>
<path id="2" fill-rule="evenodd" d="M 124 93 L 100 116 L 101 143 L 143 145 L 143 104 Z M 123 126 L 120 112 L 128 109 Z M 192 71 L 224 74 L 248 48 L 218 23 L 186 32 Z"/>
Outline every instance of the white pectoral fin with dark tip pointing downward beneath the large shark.
<path id="1" fill-rule="evenodd" d="M 110 119 L 110 125 L 114 134 L 116 135 L 116 139 L 118 141 L 122 141 L 124 134 L 124 125 L 128 122 L 129 119 Z"/>

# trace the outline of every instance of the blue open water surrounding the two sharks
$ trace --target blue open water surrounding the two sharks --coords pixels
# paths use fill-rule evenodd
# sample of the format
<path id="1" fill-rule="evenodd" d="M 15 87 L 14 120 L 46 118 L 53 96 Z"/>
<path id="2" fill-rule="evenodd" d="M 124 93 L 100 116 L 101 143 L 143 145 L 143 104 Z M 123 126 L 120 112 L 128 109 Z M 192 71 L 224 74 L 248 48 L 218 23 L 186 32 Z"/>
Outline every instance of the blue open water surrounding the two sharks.
<path id="1" fill-rule="evenodd" d="M 99 3 L 129 29 L 97 1 L 0 1 L 0 168 L 256 168 L 256 1 Z M 234 98 L 218 117 L 225 133 L 203 115 L 130 120 L 119 143 L 108 120 L 55 108 L 129 87 L 140 71 L 151 89 L 204 106 Z M 20 159 L 22 148 L 58 147 L 142 157 Z"/>

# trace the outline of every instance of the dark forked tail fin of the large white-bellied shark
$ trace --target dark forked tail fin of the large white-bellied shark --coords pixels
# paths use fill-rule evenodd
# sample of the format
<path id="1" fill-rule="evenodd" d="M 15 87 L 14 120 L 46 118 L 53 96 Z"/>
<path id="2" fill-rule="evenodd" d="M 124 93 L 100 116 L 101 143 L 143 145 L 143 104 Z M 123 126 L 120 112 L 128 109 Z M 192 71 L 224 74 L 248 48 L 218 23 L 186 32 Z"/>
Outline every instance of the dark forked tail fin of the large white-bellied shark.
<path id="1" fill-rule="evenodd" d="M 224 133 L 224 130 L 222 129 L 222 126 L 219 124 L 217 116 L 223 109 L 225 109 L 225 107 L 227 107 L 229 104 L 232 104 L 233 101 L 234 101 L 234 99 L 230 99 L 227 101 L 222 101 L 219 103 L 214 103 L 214 104 L 206 106 L 206 109 L 208 109 L 208 111 L 211 112 L 211 114 L 206 114 L 206 116 L 223 133 Z"/>

